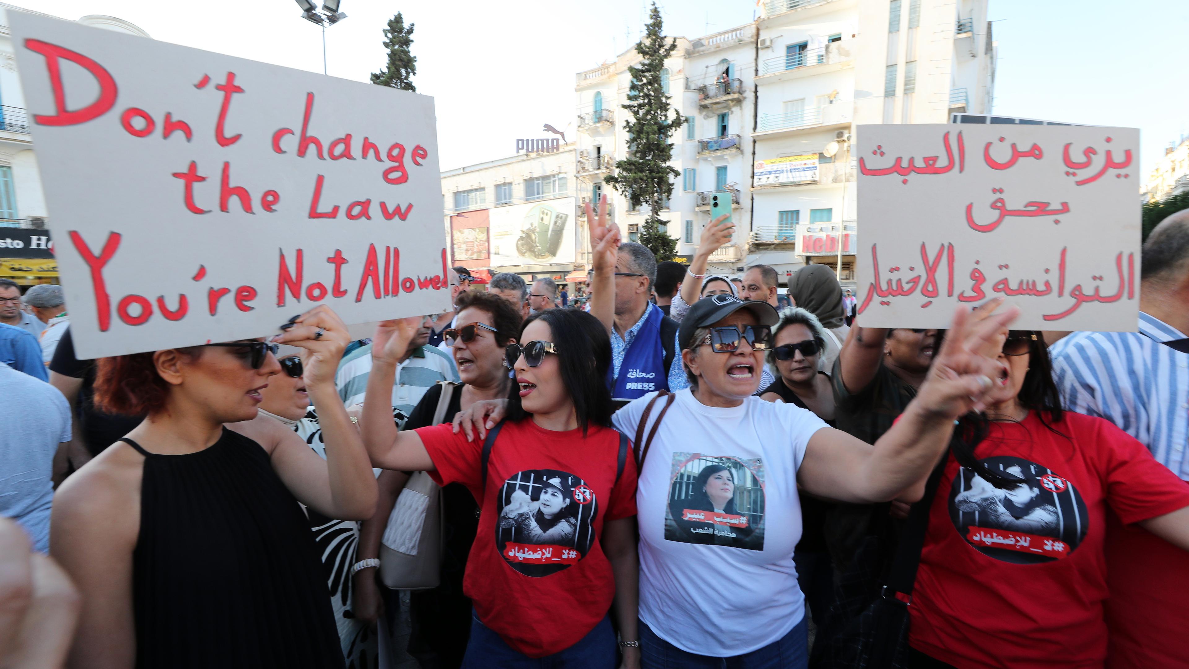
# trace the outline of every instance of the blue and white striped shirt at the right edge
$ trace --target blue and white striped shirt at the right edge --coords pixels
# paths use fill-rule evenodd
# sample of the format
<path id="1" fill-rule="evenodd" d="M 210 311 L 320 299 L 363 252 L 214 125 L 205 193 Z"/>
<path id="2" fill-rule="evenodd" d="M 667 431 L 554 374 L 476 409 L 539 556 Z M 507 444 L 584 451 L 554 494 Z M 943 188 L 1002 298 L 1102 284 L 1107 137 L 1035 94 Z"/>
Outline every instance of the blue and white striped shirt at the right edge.
<path id="1" fill-rule="evenodd" d="M 1176 327 L 1139 312 L 1139 332 L 1075 332 L 1050 349 L 1067 408 L 1118 425 L 1189 481 L 1189 354 Z"/>

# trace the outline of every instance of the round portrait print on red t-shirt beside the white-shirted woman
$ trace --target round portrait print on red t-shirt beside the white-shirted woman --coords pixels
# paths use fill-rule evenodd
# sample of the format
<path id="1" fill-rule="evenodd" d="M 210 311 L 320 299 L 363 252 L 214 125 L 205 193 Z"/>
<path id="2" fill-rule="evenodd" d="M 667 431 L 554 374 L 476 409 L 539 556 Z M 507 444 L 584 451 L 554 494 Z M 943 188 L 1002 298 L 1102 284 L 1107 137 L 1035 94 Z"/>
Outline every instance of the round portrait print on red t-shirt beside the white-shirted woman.
<path id="1" fill-rule="evenodd" d="M 526 576 L 548 576 L 577 563 L 594 544 L 598 502 L 581 479 L 527 469 L 499 488 L 496 548 Z"/>

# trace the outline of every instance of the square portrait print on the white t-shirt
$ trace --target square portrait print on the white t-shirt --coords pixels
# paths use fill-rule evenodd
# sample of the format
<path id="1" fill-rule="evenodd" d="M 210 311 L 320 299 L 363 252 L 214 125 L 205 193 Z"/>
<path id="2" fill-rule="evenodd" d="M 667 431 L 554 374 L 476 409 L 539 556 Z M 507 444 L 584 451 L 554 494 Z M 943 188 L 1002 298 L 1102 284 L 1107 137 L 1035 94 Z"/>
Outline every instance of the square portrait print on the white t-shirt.
<path id="1" fill-rule="evenodd" d="M 673 454 L 665 538 L 763 550 L 763 463 L 760 458 Z"/>

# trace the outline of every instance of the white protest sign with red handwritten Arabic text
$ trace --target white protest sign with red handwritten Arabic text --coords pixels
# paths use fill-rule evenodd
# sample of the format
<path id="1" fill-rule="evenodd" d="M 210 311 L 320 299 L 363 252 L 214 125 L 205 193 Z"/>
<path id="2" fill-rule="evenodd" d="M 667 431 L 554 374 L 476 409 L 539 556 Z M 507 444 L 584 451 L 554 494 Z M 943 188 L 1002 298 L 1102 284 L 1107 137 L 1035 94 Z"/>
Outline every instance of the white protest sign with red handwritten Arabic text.
<path id="1" fill-rule="evenodd" d="M 1135 331 L 1138 130 L 864 125 L 857 156 L 864 326 L 1004 296 L 1020 330 Z"/>

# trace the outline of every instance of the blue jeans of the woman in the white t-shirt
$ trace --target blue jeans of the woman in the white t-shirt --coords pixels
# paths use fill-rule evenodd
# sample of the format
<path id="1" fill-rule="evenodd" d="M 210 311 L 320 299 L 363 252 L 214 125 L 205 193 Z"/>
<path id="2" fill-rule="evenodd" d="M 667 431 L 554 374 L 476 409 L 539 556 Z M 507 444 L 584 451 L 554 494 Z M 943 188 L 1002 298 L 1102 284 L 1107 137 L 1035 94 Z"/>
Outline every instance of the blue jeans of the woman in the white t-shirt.
<path id="1" fill-rule="evenodd" d="M 805 618 L 784 638 L 759 650 L 734 657 L 710 657 L 686 652 L 656 636 L 640 621 L 642 669 L 805 669 L 809 665 L 809 636 Z"/>

